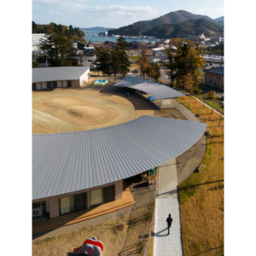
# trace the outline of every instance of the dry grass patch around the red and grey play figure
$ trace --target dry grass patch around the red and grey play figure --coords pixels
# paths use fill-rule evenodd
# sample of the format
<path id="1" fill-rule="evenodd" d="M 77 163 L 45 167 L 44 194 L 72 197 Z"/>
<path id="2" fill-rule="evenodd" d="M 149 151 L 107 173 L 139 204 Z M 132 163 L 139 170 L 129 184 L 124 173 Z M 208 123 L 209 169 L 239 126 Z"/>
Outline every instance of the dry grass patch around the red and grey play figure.
<path id="1" fill-rule="evenodd" d="M 154 205 L 152 208 L 154 208 Z M 103 255 L 125 256 L 132 253 L 135 256 L 142 256 L 143 251 L 139 252 L 141 249 L 141 236 L 148 234 L 151 223 L 151 219 L 146 218 L 147 212 L 147 207 L 143 207 L 133 211 L 131 216 L 126 214 L 82 230 L 49 237 L 43 241 L 34 241 L 32 242 L 32 256 L 71 255 L 73 248 L 81 246 L 85 239 L 93 236 L 103 242 Z M 124 230 L 117 230 L 120 224 L 124 224 Z M 146 237 L 143 245 L 147 243 L 147 240 L 148 238 Z"/>

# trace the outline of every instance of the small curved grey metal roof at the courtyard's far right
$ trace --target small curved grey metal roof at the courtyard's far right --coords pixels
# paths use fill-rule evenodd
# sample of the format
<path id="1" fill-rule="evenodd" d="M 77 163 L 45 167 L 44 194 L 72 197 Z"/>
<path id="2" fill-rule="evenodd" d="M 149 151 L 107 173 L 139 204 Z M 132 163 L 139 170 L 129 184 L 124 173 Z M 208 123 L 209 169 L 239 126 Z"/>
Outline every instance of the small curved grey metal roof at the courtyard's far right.
<path id="1" fill-rule="evenodd" d="M 153 96 L 154 100 L 170 99 L 185 96 L 183 93 L 174 90 L 166 85 L 162 85 L 154 81 L 140 79 L 133 76 L 125 77 L 125 79 L 122 79 L 118 83 L 113 84 L 113 86 L 122 86 L 136 90 L 142 90 L 148 93 L 150 96 Z"/>

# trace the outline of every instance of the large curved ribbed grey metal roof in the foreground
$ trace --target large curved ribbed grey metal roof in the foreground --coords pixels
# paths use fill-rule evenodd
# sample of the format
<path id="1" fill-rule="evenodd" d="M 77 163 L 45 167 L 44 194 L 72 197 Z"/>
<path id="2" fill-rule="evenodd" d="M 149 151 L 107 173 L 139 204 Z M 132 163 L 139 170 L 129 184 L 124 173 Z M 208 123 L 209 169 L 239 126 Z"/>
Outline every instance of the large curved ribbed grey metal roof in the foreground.
<path id="1" fill-rule="evenodd" d="M 90 131 L 32 134 L 32 200 L 132 177 L 190 148 L 207 124 L 143 115 Z"/>

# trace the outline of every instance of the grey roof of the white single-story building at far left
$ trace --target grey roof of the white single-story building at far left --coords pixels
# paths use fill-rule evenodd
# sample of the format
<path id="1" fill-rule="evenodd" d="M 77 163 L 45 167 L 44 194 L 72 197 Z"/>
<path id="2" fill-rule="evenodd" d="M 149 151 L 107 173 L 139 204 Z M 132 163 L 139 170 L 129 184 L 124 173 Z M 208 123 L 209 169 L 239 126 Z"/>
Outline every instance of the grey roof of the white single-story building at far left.
<path id="1" fill-rule="evenodd" d="M 90 67 L 34 67 L 32 68 L 32 83 L 77 80 Z"/>

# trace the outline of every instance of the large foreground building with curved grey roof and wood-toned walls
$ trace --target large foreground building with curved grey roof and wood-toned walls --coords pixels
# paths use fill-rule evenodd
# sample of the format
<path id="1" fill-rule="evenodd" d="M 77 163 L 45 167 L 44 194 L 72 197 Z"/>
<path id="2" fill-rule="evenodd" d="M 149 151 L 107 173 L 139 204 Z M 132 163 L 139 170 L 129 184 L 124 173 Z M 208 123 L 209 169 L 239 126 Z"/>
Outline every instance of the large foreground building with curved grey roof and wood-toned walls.
<path id="1" fill-rule="evenodd" d="M 107 208 L 113 212 L 117 205 L 134 205 L 123 180 L 183 154 L 206 128 L 204 123 L 144 115 L 95 130 L 32 134 L 32 220 L 72 212 L 79 216 L 81 210 L 93 218 L 91 207 L 102 205 L 106 211 L 111 202 L 115 207 Z M 42 231 L 38 226 L 33 224 L 33 232 Z M 55 221 L 48 229 L 54 227 Z"/>

